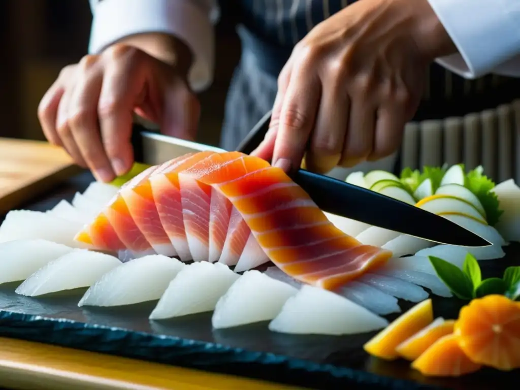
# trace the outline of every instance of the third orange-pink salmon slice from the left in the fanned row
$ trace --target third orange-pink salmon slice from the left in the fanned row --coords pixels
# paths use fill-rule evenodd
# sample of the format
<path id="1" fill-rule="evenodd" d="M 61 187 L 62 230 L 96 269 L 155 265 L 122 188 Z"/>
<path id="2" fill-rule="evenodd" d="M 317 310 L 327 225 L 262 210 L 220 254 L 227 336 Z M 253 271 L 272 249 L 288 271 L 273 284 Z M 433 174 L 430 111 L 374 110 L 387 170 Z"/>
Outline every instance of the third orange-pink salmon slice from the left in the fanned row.
<path id="1" fill-rule="evenodd" d="M 177 251 L 164 231 L 159 218 L 148 178 L 158 168 L 158 166 L 152 166 L 141 172 L 129 181 L 128 185 L 121 188 L 120 194 L 134 219 L 135 225 L 150 243 L 153 250 L 164 256 L 176 256 Z"/>

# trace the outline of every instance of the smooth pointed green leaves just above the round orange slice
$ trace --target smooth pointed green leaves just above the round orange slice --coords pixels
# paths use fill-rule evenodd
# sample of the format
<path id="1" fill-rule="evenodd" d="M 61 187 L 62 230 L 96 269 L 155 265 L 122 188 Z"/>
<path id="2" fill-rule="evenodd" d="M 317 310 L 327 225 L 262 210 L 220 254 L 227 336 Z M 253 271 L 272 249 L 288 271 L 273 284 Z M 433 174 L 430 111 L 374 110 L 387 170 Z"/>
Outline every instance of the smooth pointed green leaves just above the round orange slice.
<path id="1" fill-rule="evenodd" d="M 453 295 L 463 300 L 472 300 L 485 295 L 500 294 L 511 300 L 520 297 L 520 267 L 509 267 L 502 278 L 482 280 L 482 271 L 475 257 L 468 253 L 462 269 L 441 258 L 428 256 L 440 280 Z"/>

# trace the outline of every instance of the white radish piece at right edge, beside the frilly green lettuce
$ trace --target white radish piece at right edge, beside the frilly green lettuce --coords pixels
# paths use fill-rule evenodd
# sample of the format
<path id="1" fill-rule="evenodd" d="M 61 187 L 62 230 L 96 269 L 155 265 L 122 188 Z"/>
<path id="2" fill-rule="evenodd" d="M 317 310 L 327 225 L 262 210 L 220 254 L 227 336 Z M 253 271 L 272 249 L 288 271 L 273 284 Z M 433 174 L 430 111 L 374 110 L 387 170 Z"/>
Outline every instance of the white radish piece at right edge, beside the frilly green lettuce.
<path id="1" fill-rule="evenodd" d="M 498 197 L 500 210 L 504 212 L 496 225 L 507 241 L 520 241 L 520 187 L 513 179 L 503 181 L 492 189 Z"/>

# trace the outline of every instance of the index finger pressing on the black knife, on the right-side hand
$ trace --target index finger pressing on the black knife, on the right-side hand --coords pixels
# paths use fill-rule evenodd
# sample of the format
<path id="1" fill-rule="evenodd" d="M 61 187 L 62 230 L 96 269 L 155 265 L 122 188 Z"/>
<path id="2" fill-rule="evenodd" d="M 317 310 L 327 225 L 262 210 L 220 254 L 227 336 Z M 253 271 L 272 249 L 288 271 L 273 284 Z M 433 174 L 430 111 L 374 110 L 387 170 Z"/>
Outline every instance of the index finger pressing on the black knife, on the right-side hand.
<path id="1" fill-rule="evenodd" d="M 321 83 L 309 73 L 303 66 L 293 69 L 283 96 L 272 162 L 286 172 L 300 166 L 316 120 Z"/>

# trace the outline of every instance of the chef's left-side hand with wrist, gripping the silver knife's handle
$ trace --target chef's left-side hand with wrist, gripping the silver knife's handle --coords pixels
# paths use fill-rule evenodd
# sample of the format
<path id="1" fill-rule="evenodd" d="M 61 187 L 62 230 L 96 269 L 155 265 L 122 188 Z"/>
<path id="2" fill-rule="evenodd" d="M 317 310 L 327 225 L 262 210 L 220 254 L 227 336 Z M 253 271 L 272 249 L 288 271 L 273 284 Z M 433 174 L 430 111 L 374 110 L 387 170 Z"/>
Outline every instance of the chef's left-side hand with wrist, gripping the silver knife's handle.
<path id="1" fill-rule="evenodd" d="M 168 135 L 192 139 L 197 130 L 200 106 L 186 81 L 189 49 L 171 37 L 145 38 L 64 68 L 38 107 L 47 139 L 101 181 L 132 166 L 134 112 Z M 148 45 L 151 55 L 140 45 Z"/>

